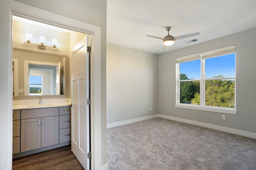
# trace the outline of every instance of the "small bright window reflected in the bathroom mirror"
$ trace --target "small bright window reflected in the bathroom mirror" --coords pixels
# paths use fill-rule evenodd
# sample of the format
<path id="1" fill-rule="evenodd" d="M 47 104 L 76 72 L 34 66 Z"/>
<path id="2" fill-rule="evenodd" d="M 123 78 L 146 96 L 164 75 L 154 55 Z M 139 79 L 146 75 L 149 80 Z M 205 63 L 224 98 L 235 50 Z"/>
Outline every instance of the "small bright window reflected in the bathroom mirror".
<path id="1" fill-rule="evenodd" d="M 30 74 L 29 93 L 30 95 L 42 95 L 42 74 Z"/>

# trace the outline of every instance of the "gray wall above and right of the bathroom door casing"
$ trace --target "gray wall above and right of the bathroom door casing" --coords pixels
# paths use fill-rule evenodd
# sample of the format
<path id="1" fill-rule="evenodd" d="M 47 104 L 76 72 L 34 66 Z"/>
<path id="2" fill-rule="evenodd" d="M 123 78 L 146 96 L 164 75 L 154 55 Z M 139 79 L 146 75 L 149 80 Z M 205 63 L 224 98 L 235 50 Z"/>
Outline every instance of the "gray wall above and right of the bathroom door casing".
<path id="1" fill-rule="evenodd" d="M 101 27 L 102 165 L 107 163 L 106 136 L 106 27 L 107 0 L 16 0 L 45 11 Z"/>

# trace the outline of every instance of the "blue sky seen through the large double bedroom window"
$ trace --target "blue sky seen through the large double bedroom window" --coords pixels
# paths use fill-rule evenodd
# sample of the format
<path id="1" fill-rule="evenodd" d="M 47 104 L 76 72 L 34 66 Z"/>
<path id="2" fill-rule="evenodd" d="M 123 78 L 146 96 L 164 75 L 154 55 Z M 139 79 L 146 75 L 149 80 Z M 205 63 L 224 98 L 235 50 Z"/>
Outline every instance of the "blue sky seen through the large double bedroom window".
<path id="1" fill-rule="evenodd" d="M 235 76 L 235 53 L 225 56 L 209 58 L 205 60 L 205 74 L 207 78 L 223 75 Z M 187 75 L 189 79 L 200 79 L 200 60 L 180 63 L 180 73 Z"/>

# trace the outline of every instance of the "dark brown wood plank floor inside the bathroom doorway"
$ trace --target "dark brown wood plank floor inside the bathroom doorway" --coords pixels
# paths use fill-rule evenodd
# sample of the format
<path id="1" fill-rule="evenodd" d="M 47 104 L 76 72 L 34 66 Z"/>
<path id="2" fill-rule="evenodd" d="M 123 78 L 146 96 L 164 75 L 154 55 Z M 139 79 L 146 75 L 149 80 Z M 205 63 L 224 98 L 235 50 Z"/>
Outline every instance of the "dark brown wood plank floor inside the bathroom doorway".
<path id="1" fill-rule="evenodd" d="M 83 167 L 72 153 L 71 146 L 63 146 L 61 148 L 13 159 L 13 170 L 25 169 L 83 170 Z"/>

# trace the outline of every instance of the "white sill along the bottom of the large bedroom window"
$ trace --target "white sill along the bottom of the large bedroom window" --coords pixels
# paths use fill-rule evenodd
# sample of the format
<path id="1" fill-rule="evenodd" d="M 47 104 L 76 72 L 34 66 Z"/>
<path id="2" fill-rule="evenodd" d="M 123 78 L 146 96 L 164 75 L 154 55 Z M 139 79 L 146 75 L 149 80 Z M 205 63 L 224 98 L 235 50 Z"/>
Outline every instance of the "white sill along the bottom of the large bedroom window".
<path id="1" fill-rule="evenodd" d="M 236 114 L 237 113 L 237 110 L 235 110 L 235 109 L 191 106 L 191 105 L 186 105 L 186 104 L 184 104 L 184 105 L 176 104 L 175 107 L 183 108 L 183 109 L 194 109 L 194 110 L 204 110 L 204 111 L 209 111 L 209 112 L 227 113 L 227 114 Z"/>

